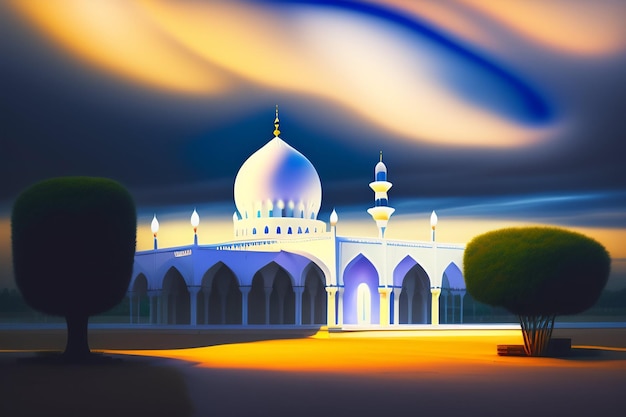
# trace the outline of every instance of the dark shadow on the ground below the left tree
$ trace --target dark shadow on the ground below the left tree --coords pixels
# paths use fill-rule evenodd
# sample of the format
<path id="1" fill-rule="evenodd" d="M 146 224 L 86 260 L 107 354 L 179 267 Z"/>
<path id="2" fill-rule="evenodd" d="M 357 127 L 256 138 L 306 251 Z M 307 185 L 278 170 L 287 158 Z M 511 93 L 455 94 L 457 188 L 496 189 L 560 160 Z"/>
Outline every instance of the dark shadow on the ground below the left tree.
<path id="1" fill-rule="evenodd" d="M 50 355 L 0 353 L 0 416 L 184 417 L 193 412 L 183 375 L 162 360 L 124 356 L 71 365 Z"/>

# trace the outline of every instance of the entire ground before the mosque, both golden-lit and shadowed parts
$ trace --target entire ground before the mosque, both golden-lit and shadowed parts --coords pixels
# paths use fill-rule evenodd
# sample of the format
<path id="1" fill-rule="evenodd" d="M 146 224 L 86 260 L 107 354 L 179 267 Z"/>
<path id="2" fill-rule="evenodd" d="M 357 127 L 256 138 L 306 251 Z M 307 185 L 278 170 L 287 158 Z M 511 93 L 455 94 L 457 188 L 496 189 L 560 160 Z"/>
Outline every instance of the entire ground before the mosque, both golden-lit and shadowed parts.
<path id="1" fill-rule="evenodd" d="M 626 414 L 624 328 L 559 329 L 561 359 L 497 356 L 521 343 L 506 329 L 263 333 L 96 329 L 114 360 L 68 367 L 16 360 L 62 349 L 62 330 L 0 330 L 0 416 Z"/>

